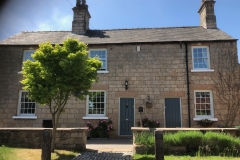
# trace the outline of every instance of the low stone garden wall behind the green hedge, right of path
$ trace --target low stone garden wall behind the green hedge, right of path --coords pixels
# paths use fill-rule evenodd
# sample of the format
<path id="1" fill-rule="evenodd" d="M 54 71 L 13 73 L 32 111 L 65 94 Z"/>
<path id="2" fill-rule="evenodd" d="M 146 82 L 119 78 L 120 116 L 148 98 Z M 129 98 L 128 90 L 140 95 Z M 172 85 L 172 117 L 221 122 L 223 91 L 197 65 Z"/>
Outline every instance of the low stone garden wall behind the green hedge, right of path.
<path id="1" fill-rule="evenodd" d="M 137 133 L 143 132 L 143 131 L 154 131 L 154 130 L 160 130 L 164 133 L 173 133 L 178 131 L 201 131 L 203 133 L 207 131 L 217 131 L 217 132 L 224 132 L 229 133 L 232 136 L 240 137 L 240 129 L 237 128 L 142 128 L 142 127 L 132 127 L 131 128 L 133 132 L 133 154 L 146 154 L 146 147 L 143 145 L 136 145 L 135 144 L 135 135 Z M 175 147 L 176 148 L 176 147 Z M 175 149 L 174 147 L 171 147 L 171 151 Z M 168 148 L 169 149 L 169 148 Z M 179 150 L 179 147 L 177 148 Z M 186 151 L 186 148 L 180 147 L 181 151 Z M 165 150 L 164 150 L 165 151 Z M 149 153 L 154 153 L 154 150 L 148 151 Z"/>

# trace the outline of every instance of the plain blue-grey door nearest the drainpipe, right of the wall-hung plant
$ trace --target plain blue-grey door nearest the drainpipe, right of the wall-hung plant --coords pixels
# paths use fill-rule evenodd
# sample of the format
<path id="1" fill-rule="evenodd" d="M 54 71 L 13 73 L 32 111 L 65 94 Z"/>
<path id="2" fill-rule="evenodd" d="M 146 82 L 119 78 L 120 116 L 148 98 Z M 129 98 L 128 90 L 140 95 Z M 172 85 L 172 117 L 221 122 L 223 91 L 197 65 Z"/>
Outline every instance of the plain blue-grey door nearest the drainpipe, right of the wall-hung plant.
<path id="1" fill-rule="evenodd" d="M 165 127 L 181 127 L 180 98 L 165 98 Z"/>

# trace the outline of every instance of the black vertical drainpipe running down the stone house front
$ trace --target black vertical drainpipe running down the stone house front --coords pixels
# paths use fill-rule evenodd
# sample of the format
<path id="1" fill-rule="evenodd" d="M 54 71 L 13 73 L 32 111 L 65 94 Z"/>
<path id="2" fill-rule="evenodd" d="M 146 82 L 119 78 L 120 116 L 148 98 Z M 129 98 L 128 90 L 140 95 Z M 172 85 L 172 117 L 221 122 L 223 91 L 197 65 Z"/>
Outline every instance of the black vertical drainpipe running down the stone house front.
<path id="1" fill-rule="evenodd" d="M 191 128 L 191 116 L 190 116 L 190 87 L 189 87 L 189 73 L 188 73 L 188 44 L 187 42 L 185 44 L 186 49 L 186 56 L 185 56 L 185 62 L 186 62 L 186 73 L 187 73 L 187 102 L 188 102 L 188 127 Z"/>

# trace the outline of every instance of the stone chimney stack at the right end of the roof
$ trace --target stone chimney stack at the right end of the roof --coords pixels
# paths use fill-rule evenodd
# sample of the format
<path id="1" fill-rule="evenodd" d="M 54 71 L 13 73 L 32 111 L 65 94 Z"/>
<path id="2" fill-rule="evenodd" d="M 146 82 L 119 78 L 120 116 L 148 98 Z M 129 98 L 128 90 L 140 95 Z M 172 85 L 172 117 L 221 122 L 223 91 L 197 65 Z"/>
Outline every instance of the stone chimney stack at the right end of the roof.
<path id="1" fill-rule="evenodd" d="M 201 7 L 198 11 L 200 14 L 201 26 L 206 29 L 216 29 L 217 21 L 214 13 L 214 0 L 202 0 Z"/>

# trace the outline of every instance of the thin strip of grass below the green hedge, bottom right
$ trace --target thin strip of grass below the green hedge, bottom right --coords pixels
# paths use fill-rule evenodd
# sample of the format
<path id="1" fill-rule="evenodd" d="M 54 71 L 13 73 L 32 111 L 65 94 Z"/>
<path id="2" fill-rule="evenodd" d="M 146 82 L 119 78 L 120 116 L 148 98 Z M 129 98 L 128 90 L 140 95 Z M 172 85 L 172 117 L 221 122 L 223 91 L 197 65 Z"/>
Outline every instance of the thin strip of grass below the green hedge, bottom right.
<path id="1" fill-rule="evenodd" d="M 155 160 L 154 155 L 140 155 L 135 154 L 134 160 Z M 220 157 L 220 156 L 208 156 L 208 157 L 191 157 L 191 156 L 164 156 L 164 160 L 238 160 L 234 157 Z"/>

